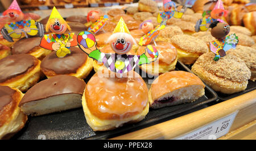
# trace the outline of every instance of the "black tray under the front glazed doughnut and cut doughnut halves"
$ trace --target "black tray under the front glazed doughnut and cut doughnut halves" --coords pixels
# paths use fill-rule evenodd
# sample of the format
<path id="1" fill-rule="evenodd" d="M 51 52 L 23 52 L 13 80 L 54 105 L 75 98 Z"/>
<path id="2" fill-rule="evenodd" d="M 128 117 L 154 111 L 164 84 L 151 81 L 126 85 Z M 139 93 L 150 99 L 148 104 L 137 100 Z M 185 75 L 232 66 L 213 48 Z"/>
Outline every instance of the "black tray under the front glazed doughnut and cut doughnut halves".
<path id="1" fill-rule="evenodd" d="M 177 62 L 175 70 L 189 71 L 188 68 L 180 62 Z M 95 72 L 92 71 L 85 81 L 87 82 L 94 73 Z M 147 83 L 147 78 L 144 78 L 144 80 Z M 147 84 L 147 87 L 150 88 L 150 84 Z M 82 107 L 39 117 L 28 117 L 26 126 L 18 132 L 13 139 L 109 139 L 173 119 L 178 114 L 206 105 L 206 103 L 216 99 L 217 94 L 206 85 L 205 95 L 194 102 L 163 107 L 161 109 L 150 109 L 141 122 L 126 124 L 115 130 L 104 132 L 94 132 L 92 128 L 88 126 Z"/>

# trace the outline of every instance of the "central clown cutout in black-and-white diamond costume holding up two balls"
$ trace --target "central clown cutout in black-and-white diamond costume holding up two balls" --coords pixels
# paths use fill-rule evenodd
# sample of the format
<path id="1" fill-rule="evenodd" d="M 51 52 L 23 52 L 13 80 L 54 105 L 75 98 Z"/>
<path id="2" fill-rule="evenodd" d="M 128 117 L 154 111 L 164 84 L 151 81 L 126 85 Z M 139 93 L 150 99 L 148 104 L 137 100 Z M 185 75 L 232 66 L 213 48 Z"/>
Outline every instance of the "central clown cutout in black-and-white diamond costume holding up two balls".
<path id="1" fill-rule="evenodd" d="M 96 59 L 112 72 L 124 74 L 137 65 L 154 62 L 158 58 L 158 51 L 151 45 L 147 45 L 146 52 L 142 55 L 128 55 L 136 41 L 131 36 L 125 21 L 120 18 L 108 43 L 115 53 L 102 53 L 96 47 L 95 37 L 92 33 L 83 31 L 77 36 L 79 48 L 90 58 Z"/>

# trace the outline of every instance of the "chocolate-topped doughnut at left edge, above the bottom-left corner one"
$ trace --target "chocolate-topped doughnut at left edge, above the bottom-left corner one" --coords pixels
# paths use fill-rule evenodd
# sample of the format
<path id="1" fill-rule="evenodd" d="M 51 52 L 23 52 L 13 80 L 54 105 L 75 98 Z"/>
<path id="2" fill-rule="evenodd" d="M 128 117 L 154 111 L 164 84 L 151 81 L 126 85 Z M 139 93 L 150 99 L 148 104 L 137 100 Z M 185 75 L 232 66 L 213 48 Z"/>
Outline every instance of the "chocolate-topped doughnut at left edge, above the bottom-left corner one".
<path id="1" fill-rule="evenodd" d="M 30 54 L 14 54 L 0 60 L 0 85 L 25 92 L 41 76 L 40 61 Z"/>

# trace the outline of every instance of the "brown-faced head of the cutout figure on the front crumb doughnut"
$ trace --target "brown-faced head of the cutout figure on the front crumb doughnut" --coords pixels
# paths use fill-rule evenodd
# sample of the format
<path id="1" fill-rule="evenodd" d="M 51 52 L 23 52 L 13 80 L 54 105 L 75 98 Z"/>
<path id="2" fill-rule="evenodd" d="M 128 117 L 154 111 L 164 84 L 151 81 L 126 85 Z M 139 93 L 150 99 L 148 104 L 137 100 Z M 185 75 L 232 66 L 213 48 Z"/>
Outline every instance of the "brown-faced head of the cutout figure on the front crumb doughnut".
<path id="1" fill-rule="evenodd" d="M 212 28 L 212 30 L 210 31 L 212 36 L 218 39 L 225 38 L 230 32 L 229 24 L 220 23 L 219 21 L 216 21 L 216 23 L 211 24 L 210 28 Z"/>

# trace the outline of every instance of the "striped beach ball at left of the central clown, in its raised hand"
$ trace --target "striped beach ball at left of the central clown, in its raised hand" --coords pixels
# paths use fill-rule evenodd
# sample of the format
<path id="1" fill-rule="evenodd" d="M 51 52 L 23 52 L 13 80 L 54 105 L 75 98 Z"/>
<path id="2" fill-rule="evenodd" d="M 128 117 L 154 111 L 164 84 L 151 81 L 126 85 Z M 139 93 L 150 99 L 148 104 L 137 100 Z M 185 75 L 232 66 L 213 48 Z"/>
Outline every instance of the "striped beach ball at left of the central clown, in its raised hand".
<path id="1" fill-rule="evenodd" d="M 77 36 L 77 42 L 84 48 L 92 48 L 95 44 L 95 37 L 90 32 L 82 31 Z"/>

